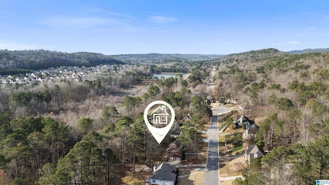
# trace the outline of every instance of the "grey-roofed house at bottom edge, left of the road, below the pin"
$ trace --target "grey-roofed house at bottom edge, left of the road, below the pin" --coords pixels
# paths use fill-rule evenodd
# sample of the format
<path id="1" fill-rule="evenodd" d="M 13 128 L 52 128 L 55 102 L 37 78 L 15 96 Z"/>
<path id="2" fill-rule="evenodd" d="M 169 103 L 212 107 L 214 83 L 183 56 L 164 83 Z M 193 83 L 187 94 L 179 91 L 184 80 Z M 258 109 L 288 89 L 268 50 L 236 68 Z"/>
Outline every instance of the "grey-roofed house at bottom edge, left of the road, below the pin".
<path id="1" fill-rule="evenodd" d="M 176 181 L 176 167 L 174 165 L 162 162 L 155 167 L 152 176 L 150 177 L 152 184 L 174 185 Z"/>

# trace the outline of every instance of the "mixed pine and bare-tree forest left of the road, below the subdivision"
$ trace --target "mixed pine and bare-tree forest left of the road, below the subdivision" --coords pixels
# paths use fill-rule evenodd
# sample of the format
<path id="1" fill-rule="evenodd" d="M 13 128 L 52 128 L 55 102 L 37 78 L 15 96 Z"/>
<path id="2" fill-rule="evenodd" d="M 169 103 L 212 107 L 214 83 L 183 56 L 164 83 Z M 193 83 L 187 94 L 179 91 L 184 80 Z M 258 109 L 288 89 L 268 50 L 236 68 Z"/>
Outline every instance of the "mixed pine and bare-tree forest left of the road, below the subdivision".
<path id="1" fill-rule="evenodd" d="M 154 100 L 170 102 L 177 119 L 192 107 L 197 119 L 186 122 L 181 143 L 184 151 L 198 152 L 211 116 L 201 96 L 206 68 L 190 63 L 188 70 L 194 72 L 186 80 L 177 76 L 150 85 L 134 80 L 136 74 L 151 76 L 157 67 L 136 65 L 93 79 L 2 86 L 0 184 L 121 184 L 117 174 L 126 164 L 152 167 L 173 141 L 169 133 L 159 145 L 143 124 L 143 109 Z"/>

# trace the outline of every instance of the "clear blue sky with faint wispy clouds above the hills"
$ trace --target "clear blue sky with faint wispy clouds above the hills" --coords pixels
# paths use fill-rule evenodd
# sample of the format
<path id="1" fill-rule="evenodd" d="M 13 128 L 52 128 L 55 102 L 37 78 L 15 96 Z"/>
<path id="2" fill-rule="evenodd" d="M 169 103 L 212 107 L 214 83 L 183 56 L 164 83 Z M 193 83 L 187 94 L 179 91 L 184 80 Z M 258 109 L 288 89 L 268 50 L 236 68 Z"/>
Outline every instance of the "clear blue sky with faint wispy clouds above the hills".
<path id="1" fill-rule="evenodd" d="M 230 54 L 328 48 L 328 1 L 0 0 L 0 49 Z"/>

